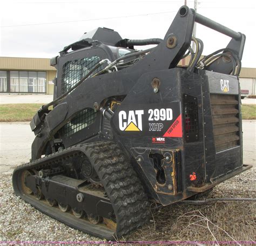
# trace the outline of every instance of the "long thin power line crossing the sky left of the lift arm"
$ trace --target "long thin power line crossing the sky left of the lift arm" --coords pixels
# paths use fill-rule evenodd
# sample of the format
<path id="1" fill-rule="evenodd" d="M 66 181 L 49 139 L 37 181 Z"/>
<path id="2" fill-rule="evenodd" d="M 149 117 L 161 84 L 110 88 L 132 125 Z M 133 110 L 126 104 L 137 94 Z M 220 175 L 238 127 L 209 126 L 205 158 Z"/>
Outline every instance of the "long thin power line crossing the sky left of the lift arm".
<path id="1" fill-rule="evenodd" d="M 1 28 L 6 28 L 6 27 L 18 27 L 18 26 L 37 26 L 37 25 L 62 24 L 62 23 L 72 23 L 72 22 L 89 22 L 91 20 L 106 20 L 106 19 L 129 18 L 129 17 L 137 17 L 137 16 L 150 16 L 150 15 L 160 15 L 160 14 L 163 14 L 163 13 L 174 13 L 174 12 L 176 13 L 177 11 L 145 13 L 145 14 L 140 14 L 140 15 L 106 17 L 106 18 L 84 19 L 84 20 L 68 20 L 66 22 L 48 22 L 48 23 L 36 23 L 36 24 L 24 24 L 24 25 L 11 25 L 11 26 L 0 26 L 0 27 Z"/>

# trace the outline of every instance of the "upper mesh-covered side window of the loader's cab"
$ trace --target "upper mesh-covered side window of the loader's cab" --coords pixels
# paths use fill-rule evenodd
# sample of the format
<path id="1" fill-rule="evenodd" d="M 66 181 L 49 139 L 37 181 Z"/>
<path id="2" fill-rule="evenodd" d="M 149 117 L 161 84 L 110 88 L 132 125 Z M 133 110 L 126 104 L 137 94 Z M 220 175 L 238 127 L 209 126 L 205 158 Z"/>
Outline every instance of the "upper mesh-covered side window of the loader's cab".
<path id="1" fill-rule="evenodd" d="M 75 86 L 99 61 L 100 58 L 97 56 L 67 61 L 62 68 L 62 94 Z M 102 66 L 97 68 L 89 77 L 99 72 L 103 68 Z"/>

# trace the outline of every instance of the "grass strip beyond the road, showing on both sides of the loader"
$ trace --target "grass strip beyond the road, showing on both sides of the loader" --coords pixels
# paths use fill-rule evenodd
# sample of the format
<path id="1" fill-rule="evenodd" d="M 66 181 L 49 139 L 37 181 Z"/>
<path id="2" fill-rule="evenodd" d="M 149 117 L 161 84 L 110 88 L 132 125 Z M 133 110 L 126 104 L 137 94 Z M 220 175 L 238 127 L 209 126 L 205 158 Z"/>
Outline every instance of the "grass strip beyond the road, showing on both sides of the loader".
<path id="1" fill-rule="evenodd" d="M 0 104 L 0 122 L 31 121 L 42 103 Z M 256 104 L 242 104 L 242 119 L 256 120 Z"/>

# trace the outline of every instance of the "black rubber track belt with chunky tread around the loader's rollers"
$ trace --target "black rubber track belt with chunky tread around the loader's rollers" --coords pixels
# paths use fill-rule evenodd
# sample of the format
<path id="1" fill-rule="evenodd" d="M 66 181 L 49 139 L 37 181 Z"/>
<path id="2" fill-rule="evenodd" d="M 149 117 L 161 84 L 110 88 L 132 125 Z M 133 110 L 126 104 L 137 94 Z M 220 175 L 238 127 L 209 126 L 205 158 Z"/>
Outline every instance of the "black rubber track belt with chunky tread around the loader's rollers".
<path id="1" fill-rule="evenodd" d="M 58 208 L 47 206 L 42 201 L 38 201 L 33 196 L 23 192 L 21 174 L 24 170 L 49 166 L 63 158 L 72 158 L 80 152 L 83 152 L 91 161 L 110 199 L 117 219 L 115 233 L 102 226 L 77 219 L 69 213 L 60 212 Z M 149 202 L 143 186 L 120 147 L 113 142 L 75 145 L 42 159 L 18 166 L 12 175 L 12 184 L 16 195 L 21 196 L 22 199 L 43 213 L 68 224 L 70 227 L 107 240 L 113 240 L 130 233 L 149 220 Z"/>

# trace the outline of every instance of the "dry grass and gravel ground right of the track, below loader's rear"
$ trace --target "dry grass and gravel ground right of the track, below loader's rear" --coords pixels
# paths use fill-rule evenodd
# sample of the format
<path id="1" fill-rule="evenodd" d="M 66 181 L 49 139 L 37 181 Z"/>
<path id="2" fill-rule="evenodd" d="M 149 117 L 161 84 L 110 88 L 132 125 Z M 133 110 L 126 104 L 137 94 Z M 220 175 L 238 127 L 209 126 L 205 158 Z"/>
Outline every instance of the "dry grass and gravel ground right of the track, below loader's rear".
<path id="1" fill-rule="evenodd" d="M 255 170 L 249 170 L 218 185 L 207 196 L 255 198 L 254 177 Z M 152 209 L 150 224 L 126 236 L 125 240 L 255 241 L 255 212 L 254 202 L 177 203 Z"/>

